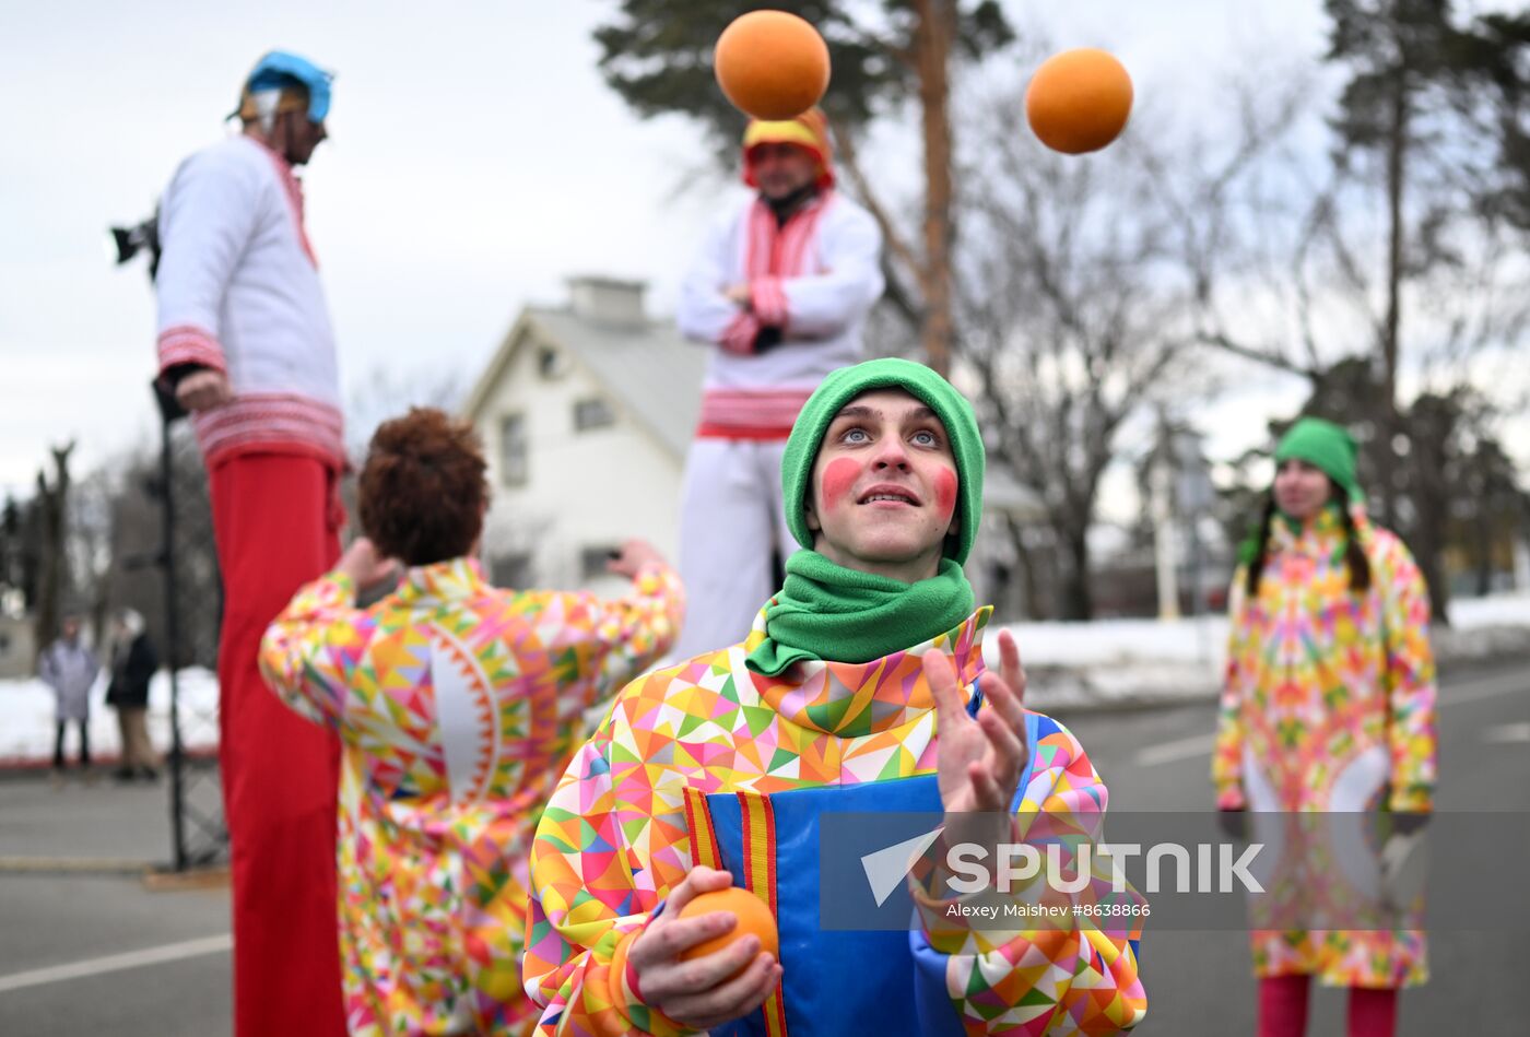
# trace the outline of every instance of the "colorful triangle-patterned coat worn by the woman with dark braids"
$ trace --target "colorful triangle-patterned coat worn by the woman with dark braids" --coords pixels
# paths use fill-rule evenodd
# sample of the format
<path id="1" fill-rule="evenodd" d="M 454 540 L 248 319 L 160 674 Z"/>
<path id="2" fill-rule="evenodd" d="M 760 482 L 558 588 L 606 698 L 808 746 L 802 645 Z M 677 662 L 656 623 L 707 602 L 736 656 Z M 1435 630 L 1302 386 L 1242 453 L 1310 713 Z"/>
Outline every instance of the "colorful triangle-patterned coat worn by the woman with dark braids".
<path id="1" fill-rule="evenodd" d="M 1259 595 L 1244 571 L 1232 589 L 1232 644 L 1212 782 L 1222 809 L 1323 812 L 1276 832 L 1288 889 L 1307 909 L 1356 912 L 1371 879 L 1345 883 L 1325 835 L 1342 812 L 1427 812 L 1435 788 L 1435 670 L 1429 595 L 1401 540 L 1354 508 L 1371 589 L 1349 592 L 1345 528 L 1325 509 L 1300 531 L 1271 523 Z M 1259 821 L 1258 814 L 1255 820 Z M 1262 840 L 1261 840 L 1262 841 Z M 1374 852 L 1374 846 L 1371 847 Z M 1374 864 L 1371 864 L 1374 872 Z M 1372 883 L 1374 884 L 1374 883 Z M 1253 935 L 1255 973 L 1316 974 L 1337 987 L 1401 987 L 1427 979 L 1421 904 L 1403 927 Z"/>

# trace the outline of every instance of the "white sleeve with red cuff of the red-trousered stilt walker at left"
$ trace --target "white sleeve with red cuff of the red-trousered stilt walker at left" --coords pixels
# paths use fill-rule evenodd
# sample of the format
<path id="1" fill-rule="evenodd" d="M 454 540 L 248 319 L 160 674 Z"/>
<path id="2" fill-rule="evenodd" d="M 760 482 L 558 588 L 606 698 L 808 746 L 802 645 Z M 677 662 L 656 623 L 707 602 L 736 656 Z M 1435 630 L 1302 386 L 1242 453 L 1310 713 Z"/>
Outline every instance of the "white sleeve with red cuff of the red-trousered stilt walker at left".
<path id="1" fill-rule="evenodd" d="M 228 370 L 219 310 L 234 266 L 254 234 L 262 184 L 231 148 L 181 164 L 159 210 L 159 370 L 199 364 Z"/>

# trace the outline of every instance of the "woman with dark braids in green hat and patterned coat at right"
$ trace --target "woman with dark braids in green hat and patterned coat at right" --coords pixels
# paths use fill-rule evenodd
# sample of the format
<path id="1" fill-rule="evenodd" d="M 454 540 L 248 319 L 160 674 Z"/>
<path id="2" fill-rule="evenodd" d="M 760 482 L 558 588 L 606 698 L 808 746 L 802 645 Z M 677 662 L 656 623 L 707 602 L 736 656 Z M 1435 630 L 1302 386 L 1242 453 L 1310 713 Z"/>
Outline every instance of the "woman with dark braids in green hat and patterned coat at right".
<path id="1" fill-rule="evenodd" d="M 1356 454 L 1317 418 L 1281 439 L 1229 601 L 1216 806 L 1236 835 L 1252 811 L 1279 850 L 1253 912 L 1261 1037 L 1305 1031 L 1313 976 L 1349 988 L 1349 1034 L 1366 1037 L 1392 1034 L 1398 988 L 1427 979 L 1421 898 L 1398 896 L 1382 846 L 1434 800 L 1429 595 L 1366 518 Z"/>

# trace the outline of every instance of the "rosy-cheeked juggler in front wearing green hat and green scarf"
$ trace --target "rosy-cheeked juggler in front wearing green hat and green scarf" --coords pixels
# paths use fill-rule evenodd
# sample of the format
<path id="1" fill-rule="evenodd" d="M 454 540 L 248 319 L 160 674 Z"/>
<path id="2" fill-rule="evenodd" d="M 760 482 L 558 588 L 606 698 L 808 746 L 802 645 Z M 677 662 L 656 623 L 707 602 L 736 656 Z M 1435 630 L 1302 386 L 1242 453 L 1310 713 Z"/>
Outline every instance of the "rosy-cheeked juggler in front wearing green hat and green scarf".
<path id="1" fill-rule="evenodd" d="M 1013 638 L 984 668 L 990 609 L 961 569 L 982 471 L 972 407 L 927 367 L 878 359 L 817 388 L 782 460 L 802 551 L 780 592 L 744 642 L 630 684 L 542 817 L 523 970 L 545 1032 L 1115 1034 L 1143 1019 L 1141 912 L 1063 902 L 984 928 L 938 869 L 913 869 L 901 912 L 898 887 L 868 892 L 861 858 L 843 881 L 823 870 L 825 811 L 944 812 L 947 837 L 982 811 L 996 827 L 976 831 L 1001 841 L 1097 831 L 1105 783 L 1024 708 Z M 684 912 L 730 886 L 770 909 L 779 950 L 751 930 L 682 959 L 744 933 L 731 912 Z M 1108 875 L 1071 904 L 1102 889 Z M 820 924 L 857 898 L 892 930 Z"/>

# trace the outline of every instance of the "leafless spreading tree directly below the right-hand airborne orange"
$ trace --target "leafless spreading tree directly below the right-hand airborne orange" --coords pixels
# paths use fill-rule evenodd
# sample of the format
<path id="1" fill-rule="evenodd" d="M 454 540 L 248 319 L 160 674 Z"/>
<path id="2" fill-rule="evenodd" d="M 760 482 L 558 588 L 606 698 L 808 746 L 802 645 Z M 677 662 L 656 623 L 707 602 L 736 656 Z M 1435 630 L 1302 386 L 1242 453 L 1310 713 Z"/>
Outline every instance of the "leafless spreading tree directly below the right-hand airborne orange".
<path id="1" fill-rule="evenodd" d="M 1100 480 L 1144 405 L 1158 395 L 1183 402 L 1203 269 L 1233 229 L 1227 185 L 1264 158 L 1294 104 L 1285 93 L 1252 104 L 1242 135 L 1219 150 L 1175 147 L 1174 127 L 1138 116 L 1134 133 L 1088 159 L 1017 135 L 1019 107 L 1001 96 L 968 132 L 961 373 L 990 418 L 990 456 L 1042 500 L 1062 569 L 1060 613 L 1083 619 L 1094 612 L 1089 529 Z M 1010 538 L 1034 574 L 1024 531 L 1011 523 Z"/>

